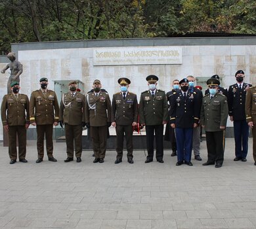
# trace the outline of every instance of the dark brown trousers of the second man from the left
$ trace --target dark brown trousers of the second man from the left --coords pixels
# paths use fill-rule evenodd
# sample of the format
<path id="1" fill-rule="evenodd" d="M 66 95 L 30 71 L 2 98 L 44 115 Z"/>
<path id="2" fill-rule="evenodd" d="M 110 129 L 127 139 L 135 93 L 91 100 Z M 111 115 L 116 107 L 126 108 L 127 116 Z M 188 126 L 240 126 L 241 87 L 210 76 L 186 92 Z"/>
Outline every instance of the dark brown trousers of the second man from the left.
<path id="1" fill-rule="evenodd" d="M 46 150 L 49 158 L 53 157 L 53 124 L 37 125 L 38 158 L 43 158 L 43 140 L 46 139 Z"/>

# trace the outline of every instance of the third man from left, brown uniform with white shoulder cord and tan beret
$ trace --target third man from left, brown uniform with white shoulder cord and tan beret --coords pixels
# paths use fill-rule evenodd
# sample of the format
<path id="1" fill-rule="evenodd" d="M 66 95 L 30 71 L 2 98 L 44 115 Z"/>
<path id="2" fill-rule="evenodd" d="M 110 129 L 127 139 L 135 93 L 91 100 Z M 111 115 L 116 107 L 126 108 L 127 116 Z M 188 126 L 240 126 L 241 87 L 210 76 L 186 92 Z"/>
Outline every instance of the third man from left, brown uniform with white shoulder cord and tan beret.
<path id="1" fill-rule="evenodd" d="M 74 142 L 76 162 L 81 162 L 82 127 L 85 126 L 85 96 L 77 91 L 77 82 L 72 80 L 70 91 L 60 101 L 60 126 L 65 125 L 65 137 L 68 157 L 64 162 L 74 160 Z"/>

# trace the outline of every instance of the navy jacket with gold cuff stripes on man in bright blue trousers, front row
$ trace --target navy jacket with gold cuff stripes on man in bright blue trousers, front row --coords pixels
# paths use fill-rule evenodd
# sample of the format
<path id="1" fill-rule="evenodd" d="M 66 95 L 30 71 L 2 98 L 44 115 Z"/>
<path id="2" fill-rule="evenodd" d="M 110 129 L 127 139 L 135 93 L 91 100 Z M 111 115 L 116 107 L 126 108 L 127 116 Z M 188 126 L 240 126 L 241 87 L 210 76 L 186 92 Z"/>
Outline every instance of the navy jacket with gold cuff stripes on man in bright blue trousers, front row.
<path id="1" fill-rule="evenodd" d="M 200 101 L 196 92 L 188 90 L 186 97 L 181 90 L 173 92 L 171 96 L 170 122 L 176 128 L 193 128 L 200 119 Z"/>

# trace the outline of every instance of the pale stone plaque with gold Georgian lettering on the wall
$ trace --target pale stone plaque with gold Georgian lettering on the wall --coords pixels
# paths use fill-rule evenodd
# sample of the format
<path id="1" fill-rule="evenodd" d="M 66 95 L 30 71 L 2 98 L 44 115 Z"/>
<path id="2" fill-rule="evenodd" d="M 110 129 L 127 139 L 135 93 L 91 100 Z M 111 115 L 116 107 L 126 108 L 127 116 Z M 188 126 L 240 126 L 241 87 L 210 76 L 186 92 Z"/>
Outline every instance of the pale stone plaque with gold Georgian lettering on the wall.
<path id="1" fill-rule="evenodd" d="M 180 46 L 95 48 L 93 65 L 182 64 Z"/>

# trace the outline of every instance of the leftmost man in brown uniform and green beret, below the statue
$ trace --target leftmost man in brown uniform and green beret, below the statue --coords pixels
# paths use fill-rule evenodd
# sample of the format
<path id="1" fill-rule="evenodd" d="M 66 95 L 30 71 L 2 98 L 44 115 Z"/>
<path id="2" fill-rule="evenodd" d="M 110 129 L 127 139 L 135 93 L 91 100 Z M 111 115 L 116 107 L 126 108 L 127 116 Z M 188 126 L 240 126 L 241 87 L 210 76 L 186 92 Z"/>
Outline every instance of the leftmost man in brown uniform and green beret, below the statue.
<path id="1" fill-rule="evenodd" d="M 17 160 L 16 136 L 18 136 L 18 158 L 20 162 L 26 160 L 26 129 L 30 126 L 28 96 L 19 94 L 19 83 L 11 83 L 11 94 L 3 97 L 1 104 L 1 118 L 3 127 L 9 135 L 10 164 Z"/>

